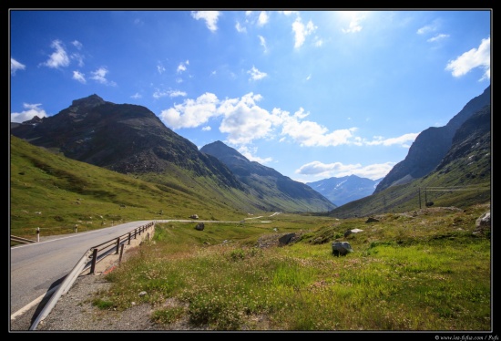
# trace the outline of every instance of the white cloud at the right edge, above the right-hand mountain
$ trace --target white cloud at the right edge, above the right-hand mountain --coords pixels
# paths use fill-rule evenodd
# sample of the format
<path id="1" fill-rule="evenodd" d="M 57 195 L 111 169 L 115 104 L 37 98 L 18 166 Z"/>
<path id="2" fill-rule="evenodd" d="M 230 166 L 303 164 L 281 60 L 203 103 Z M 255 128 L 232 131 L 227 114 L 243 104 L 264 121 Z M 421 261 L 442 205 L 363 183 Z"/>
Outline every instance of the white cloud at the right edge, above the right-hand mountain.
<path id="1" fill-rule="evenodd" d="M 446 71 L 452 71 L 454 77 L 465 76 L 475 67 L 482 67 L 486 70 L 480 80 L 491 78 L 491 38 L 482 39 L 478 48 L 472 48 L 463 55 L 449 61 L 445 67 Z"/>

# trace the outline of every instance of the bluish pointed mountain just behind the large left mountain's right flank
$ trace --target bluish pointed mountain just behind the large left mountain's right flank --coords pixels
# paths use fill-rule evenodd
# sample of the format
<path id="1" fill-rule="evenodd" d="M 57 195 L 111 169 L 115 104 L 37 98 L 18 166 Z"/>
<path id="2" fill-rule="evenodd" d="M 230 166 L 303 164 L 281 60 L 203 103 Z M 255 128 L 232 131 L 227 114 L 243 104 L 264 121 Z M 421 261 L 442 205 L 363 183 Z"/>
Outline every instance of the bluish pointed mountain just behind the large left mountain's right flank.
<path id="1" fill-rule="evenodd" d="M 221 141 L 205 145 L 200 151 L 223 162 L 239 181 L 250 188 L 253 195 L 259 197 L 263 203 L 272 205 L 275 211 L 287 209 L 290 202 L 295 202 L 303 211 L 327 212 L 336 207 L 310 186 L 293 181 L 256 161 L 248 160 Z"/>

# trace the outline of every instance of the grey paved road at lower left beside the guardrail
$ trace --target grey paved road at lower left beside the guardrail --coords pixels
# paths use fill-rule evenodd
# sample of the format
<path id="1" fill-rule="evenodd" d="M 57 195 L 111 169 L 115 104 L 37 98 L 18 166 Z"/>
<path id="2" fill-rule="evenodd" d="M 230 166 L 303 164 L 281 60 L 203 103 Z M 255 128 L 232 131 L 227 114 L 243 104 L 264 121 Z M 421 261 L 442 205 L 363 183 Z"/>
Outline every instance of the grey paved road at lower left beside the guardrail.
<path id="1" fill-rule="evenodd" d="M 152 221 L 127 222 L 12 247 L 9 253 L 11 317 L 60 284 L 91 247 L 118 238 L 148 222 Z"/>

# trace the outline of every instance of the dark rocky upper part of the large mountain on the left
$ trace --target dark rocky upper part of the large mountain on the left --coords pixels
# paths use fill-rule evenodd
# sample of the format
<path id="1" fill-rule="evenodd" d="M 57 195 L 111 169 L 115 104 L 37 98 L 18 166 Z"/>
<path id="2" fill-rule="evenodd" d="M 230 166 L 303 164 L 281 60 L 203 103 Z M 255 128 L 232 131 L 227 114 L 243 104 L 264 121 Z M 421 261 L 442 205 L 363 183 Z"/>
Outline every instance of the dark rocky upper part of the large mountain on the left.
<path id="1" fill-rule="evenodd" d="M 201 154 L 145 107 L 114 104 L 97 95 L 74 100 L 52 117 L 23 122 L 11 133 L 67 158 L 121 173 L 162 172 L 171 165 L 242 190 L 219 161 Z"/>

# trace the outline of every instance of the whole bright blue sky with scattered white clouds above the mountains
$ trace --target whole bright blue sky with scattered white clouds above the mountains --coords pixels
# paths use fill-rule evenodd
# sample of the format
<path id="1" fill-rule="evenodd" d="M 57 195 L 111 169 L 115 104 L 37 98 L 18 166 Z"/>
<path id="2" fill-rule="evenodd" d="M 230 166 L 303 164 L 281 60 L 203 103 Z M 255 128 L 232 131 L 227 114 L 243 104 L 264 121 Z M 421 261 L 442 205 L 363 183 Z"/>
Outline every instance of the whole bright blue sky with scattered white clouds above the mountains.
<path id="1" fill-rule="evenodd" d="M 97 94 L 302 182 L 383 178 L 490 84 L 489 9 L 9 16 L 10 121 Z"/>

